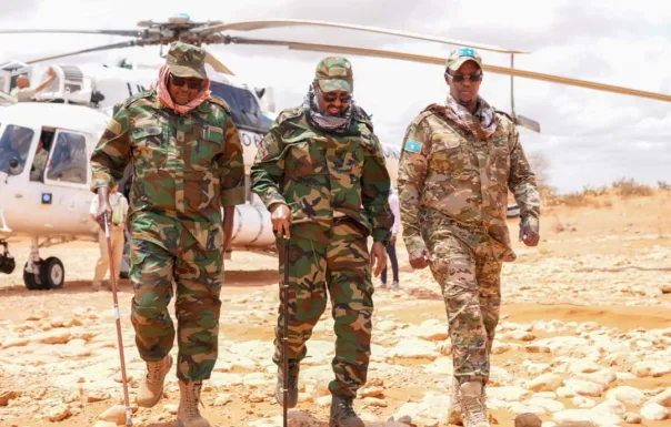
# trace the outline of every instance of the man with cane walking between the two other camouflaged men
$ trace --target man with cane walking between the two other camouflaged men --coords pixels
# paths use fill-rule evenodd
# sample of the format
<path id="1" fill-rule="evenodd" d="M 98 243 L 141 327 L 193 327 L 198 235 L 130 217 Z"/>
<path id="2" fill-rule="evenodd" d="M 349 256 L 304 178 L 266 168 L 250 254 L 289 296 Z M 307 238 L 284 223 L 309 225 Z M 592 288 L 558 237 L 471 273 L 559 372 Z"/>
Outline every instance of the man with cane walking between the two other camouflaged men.
<path id="1" fill-rule="evenodd" d="M 351 99 L 353 77 L 344 58 L 328 57 L 317 65 L 301 106 L 282 111 L 260 143 L 251 169 L 252 190 L 271 212 L 279 236 L 290 238 L 289 301 L 280 292 L 276 329 L 276 397 L 283 401 L 282 360 L 289 364 L 287 405 L 298 401 L 299 364 L 306 342 L 331 296 L 336 321 L 336 379 L 330 426 L 359 427 L 352 408 L 365 384 L 370 357 L 373 286 L 387 264 L 384 247 L 393 216 L 390 179 L 382 148 L 368 114 Z M 373 245 L 369 255 L 368 236 Z M 278 247 L 281 242 L 278 240 Z M 375 266 L 377 264 L 377 266 Z M 282 304 L 289 311 L 289 354 L 282 354 Z"/>

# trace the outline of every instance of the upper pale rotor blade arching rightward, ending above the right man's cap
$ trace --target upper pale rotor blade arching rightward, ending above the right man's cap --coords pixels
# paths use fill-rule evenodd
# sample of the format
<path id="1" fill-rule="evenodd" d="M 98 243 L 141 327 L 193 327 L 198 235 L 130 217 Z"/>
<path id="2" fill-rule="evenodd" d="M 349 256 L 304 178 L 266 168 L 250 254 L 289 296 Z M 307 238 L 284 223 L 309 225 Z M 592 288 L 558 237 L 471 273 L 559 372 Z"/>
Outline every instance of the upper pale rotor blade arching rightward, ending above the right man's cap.
<path id="1" fill-rule="evenodd" d="M 367 31 L 379 34 L 390 34 L 390 35 L 399 35 L 408 39 L 415 40 L 424 40 L 424 41 L 434 41 L 439 43 L 445 44 L 454 44 L 454 45 L 463 45 L 470 48 L 477 48 L 493 52 L 503 52 L 503 53 L 528 53 L 520 50 L 510 50 L 505 48 L 501 48 L 498 45 L 489 45 L 483 43 L 474 43 L 470 41 L 463 40 L 454 40 L 454 39 L 444 39 L 440 37 L 427 35 L 427 34 L 418 34 L 404 31 L 394 31 L 384 28 L 377 27 L 364 27 L 364 26 L 354 26 L 349 23 L 340 23 L 340 22 L 328 22 L 328 21 L 311 21 L 311 20 L 302 20 L 302 19 L 268 19 L 268 20 L 258 20 L 258 21 L 240 21 L 240 22 L 229 22 L 221 23 L 217 26 L 203 27 L 199 29 L 194 29 L 196 33 L 201 35 L 211 34 L 214 32 L 220 32 L 224 30 L 237 30 L 237 31 L 252 31 L 252 30 L 262 30 L 268 28 L 282 28 L 282 27 L 299 27 L 299 26 L 314 26 L 314 27 L 331 27 L 331 28 L 341 28 L 348 30 L 358 30 L 358 31 Z"/>

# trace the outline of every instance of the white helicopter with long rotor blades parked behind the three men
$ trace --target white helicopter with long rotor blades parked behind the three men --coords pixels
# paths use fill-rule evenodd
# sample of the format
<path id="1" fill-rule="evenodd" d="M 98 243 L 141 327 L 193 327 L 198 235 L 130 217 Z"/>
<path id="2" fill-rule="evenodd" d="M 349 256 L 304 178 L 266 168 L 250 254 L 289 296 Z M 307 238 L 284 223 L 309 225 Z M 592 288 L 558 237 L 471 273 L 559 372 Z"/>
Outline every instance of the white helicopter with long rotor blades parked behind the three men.
<path id="1" fill-rule="evenodd" d="M 501 53 L 510 54 L 511 67 L 497 67 L 490 64 L 483 64 L 482 68 L 485 71 L 490 71 L 499 74 L 507 74 L 511 78 L 511 116 L 521 126 L 524 126 L 531 131 L 540 132 L 540 124 L 532 119 L 525 118 L 521 114 L 517 114 L 514 111 L 513 100 L 513 78 L 520 77 L 525 79 L 535 79 L 552 83 L 569 84 L 575 87 L 582 87 L 587 89 L 608 91 L 613 93 L 648 98 L 660 101 L 671 101 L 670 95 L 644 92 L 629 88 L 621 88 L 614 85 L 608 85 L 595 82 L 588 82 L 583 80 L 570 79 L 565 77 L 543 74 L 532 71 L 519 70 L 514 65 L 514 55 L 524 54 L 528 52 L 519 50 L 509 50 L 499 47 L 485 45 L 482 43 L 464 42 L 452 39 L 438 38 L 427 34 L 415 34 L 408 32 L 400 32 L 394 30 L 352 26 L 347 23 L 326 22 L 326 21 L 308 21 L 308 20 L 256 20 L 256 21 L 239 21 L 223 23 L 221 21 L 202 21 L 194 22 L 187 14 L 178 14 L 171 17 L 164 22 L 153 21 L 141 21 L 138 23 L 143 30 L 0 30 L 2 33 L 27 33 L 27 32 L 41 32 L 41 33 L 86 33 L 86 34 L 112 34 L 123 35 L 132 38 L 129 41 L 104 44 L 96 48 L 89 48 L 84 50 L 78 50 L 73 52 L 62 53 L 52 57 L 40 58 L 36 60 L 27 61 L 26 64 L 33 64 L 43 61 L 56 60 L 60 58 L 77 55 L 81 53 L 88 53 L 93 51 L 103 51 L 111 49 L 122 49 L 134 45 L 160 45 L 162 47 L 173 41 L 184 41 L 188 43 L 201 45 L 201 44 L 251 44 L 251 45 L 273 45 L 283 47 L 290 50 L 302 50 L 302 51 L 319 51 L 338 54 L 353 54 L 364 57 L 377 57 L 394 60 L 413 61 L 429 64 L 444 64 L 443 58 L 429 57 L 417 53 L 394 52 L 388 50 L 374 50 L 364 49 L 357 47 L 345 45 L 333 45 L 333 44 L 317 44 L 307 42 L 296 41 L 282 41 L 282 40 L 270 40 L 270 39 L 252 39 L 242 38 L 238 35 L 223 34 L 223 31 L 253 31 L 270 28 L 281 27 L 296 27 L 296 26 L 313 26 L 321 28 L 340 28 L 349 30 L 359 30 L 372 33 L 385 33 L 398 35 L 408 39 L 423 40 L 431 42 L 439 42 L 443 44 L 471 47 L 481 50 L 495 51 Z M 220 82 L 226 79 L 233 79 L 233 72 L 223 63 L 221 63 L 211 53 L 207 54 L 207 63 L 212 69 L 212 75 L 219 75 Z M 122 67 L 121 67 L 122 68 Z M 62 71 L 62 70 L 61 70 Z M 156 74 L 153 74 L 156 75 Z M 14 131 L 17 128 L 27 129 L 24 133 L 29 133 L 29 136 L 21 132 L 18 132 L 20 136 L 19 142 L 24 148 L 23 155 L 19 157 L 10 157 L 7 160 L 7 164 L 2 165 L 0 159 L 0 183 L 3 184 L 2 191 L 0 191 L 0 199 L 3 201 L 3 207 L 0 210 L 0 232 L 18 234 L 23 227 L 23 232 L 30 234 L 32 237 L 31 244 L 31 256 L 23 267 L 24 274 L 23 279 L 26 286 L 30 289 L 38 288 L 57 288 L 62 286 L 64 279 L 64 268 L 62 262 L 58 258 L 41 260 L 39 257 L 39 247 L 68 242 L 74 238 L 96 238 L 97 236 L 97 224 L 88 216 L 89 203 L 91 200 L 91 193 L 89 191 L 88 183 L 90 182 L 90 170 L 88 167 L 88 159 L 90 153 L 96 145 L 100 134 L 104 130 L 109 120 L 109 112 L 104 113 L 100 110 L 91 109 L 90 104 L 98 105 L 108 96 L 118 99 L 128 98 L 128 93 L 119 90 L 108 90 L 106 93 L 97 94 L 92 87 L 88 91 L 74 90 L 71 91 L 66 88 L 66 81 L 68 80 L 66 72 L 60 80 L 61 88 L 56 90 L 56 93 L 44 93 L 42 96 L 46 99 L 51 98 L 48 103 L 40 102 L 28 102 L 18 103 L 8 106 L 0 108 L 0 146 L 4 143 L 6 134 L 8 141 L 13 141 Z M 213 79 L 217 80 L 217 79 Z M 94 83 L 94 80 L 92 80 Z M 56 83 L 54 83 L 56 84 Z M 141 90 L 143 84 L 140 82 L 137 84 L 138 89 Z M 230 82 L 223 83 L 223 91 L 217 94 L 213 90 L 214 95 L 220 95 L 227 102 L 228 88 L 236 87 Z M 129 90 L 132 91 L 132 84 L 129 83 Z M 53 92 L 53 91 L 52 91 Z M 74 93 L 73 93 L 74 92 Z M 263 90 L 252 93 L 252 98 L 258 102 L 259 96 L 263 95 Z M 81 95 L 81 99 L 77 98 L 77 94 Z M 100 96 L 102 94 L 102 98 Z M 131 93 L 132 94 L 132 93 Z M 230 98 L 230 94 L 229 94 Z M 42 100 L 44 101 L 44 100 Z M 78 104 L 79 102 L 79 104 Z M 87 104 L 87 105 L 84 105 Z M 109 108 L 109 105 L 108 105 Z M 73 110 L 73 109 L 77 109 Z M 248 181 L 248 201 L 244 205 L 236 207 L 236 221 L 234 221 L 234 236 L 232 238 L 233 250 L 259 250 L 263 248 L 271 251 L 274 243 L 274 236 L 270 225 L 269 212 L 258 201 L 256 195 L 252 195 L 249 191 L 249 167 L 256 155 L 257 144 L 261 140 L 264 131 L 268 130 L 270 123 L 270 116 L 264 115 L 262 112 L 250 114 L 249 111 L 239 111 L 238 118 L 236 116 L 236 109 L 233 109 L 233 122 L 242 131 L 250 131 L 249 144 L 244 143 L 244 138 L 241 138 L 244 148 L 244 163 Z M 258 123 L 261 126 L 252 129 L 249 123 L 246 124 L 246 119 L 251 116 L 257 118 Z M 266 118 L 267 120 L 262 120 Z M 19 129 L 19 131 L 21 131 Z M 33 183 L 29 182 L 30 167 L 34 154 L 40 145 L 40 136 L 44 134 L 50 140 L 50 154 L 48 166 L 42 175 L 42 182 Z M 68 150 L 59 150 L 59 144 L 66 146 Z M 42 142 L 44 145 L 44 142 Z M 392 181 L 395 182 L 398 174 L 398 160 L 400 156 L 399 149 L 391 145 L 384 145 L 384 156 L 387 160 L 387 166 L 390 172 Z M 67 153 L 67 154 L 61 154 Z M 68 157 L 70 163 L 63 163 L 61 160 Z M 73 159 L 78 156 L 80 162 L 79 167 L 66 167 L 71 165 Z M 64 166 L 61 165 L 64 164 Z M 77 181 L 78 180 L 78 181 Z M 39 181 L 39 180 L 38 180 Z M 58 191 L 58 193 L 57 193 Z M 30 202 L 29 202 L 30 200 Z M 9 202 L 11 201 L 11 202 Z M 8 203 L 9 202 L 9 203 Z M 11 209 L 13 210 L 10 210 Z M 56 207 L 56 209 L 54 209 Z M 512 206 L 514 211 L 515 206 Z M 509 206 L 509 212 L 511 206 Z M 32 216 L 32 224 L 30 223 L 31 217 L 27 215 L 28 212 L 36 214 L 42 214 L 50 220 L 44 222 L 44 216 L 38 216 L 40 218 L 39 224 L 34 222 Z M 61 221 L 63 213 L 68 216 L 67 221 Z M 518 210 L 519 214 L 519 210 Z M 51 215 L 51 216 L 50 216 Z M 39 230 L 38 230 L 39 228 Z M 39 243 L 38 236 L 47 236 L 44 243 Z M 0 270 L 4 268 L 4 272 L 9 270 L 11 264 L 10 255 L 7 251 L 7 242 L 0 241 L 0 245 L 4 245 L 6 254 L 0 254 Z M 229 254 L 230 256 L 230 254 Z M 7 264 L 3 267 L 3 264 Z M 13 270 L 13 266 L 12 268 Z M 11 273 L 11 272 L 10 272 Z"/>

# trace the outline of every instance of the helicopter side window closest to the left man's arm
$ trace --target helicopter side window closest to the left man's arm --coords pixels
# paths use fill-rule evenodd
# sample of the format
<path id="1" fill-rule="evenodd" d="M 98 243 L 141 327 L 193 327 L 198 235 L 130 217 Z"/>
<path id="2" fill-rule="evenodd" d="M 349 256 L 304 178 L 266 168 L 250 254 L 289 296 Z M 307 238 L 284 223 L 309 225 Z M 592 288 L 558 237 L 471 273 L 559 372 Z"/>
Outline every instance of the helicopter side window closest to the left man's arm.
<path id="1" fill-rule="evenodd" d="M 87 141 L 83 135 L 60 132 L 52 144 L 47 179 L 52 181 L 87 183 Z"/>

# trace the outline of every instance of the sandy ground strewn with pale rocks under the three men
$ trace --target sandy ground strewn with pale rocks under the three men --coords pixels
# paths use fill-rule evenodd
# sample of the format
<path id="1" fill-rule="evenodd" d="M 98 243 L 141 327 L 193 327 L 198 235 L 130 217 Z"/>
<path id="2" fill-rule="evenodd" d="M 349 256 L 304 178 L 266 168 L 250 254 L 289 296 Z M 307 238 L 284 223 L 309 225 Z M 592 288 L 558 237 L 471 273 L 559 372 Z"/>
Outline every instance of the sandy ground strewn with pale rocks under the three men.
<path id="1" fill-rule="evenodd" d="M 519 258 L 503 270 L 488 387 L 494 423 L 513 426 L 517 415 L 532 413 L 543 426 L 671 425 L 668 201 L 665 194 L 614 201 L 608 209 L 549 210 L 539 247 L 515 243 Z M 510 227 L 517 233 L 517 221 Z M 27 243 L 13 241 L 10 250 L 22 265 Z M 43 252 L 62 258 L 62 289 L 28 292 L 20 268 L 0 282 L 0 425 L 111 427 L 123 393 L 111 293 L 90 291 L 98 246 L 72 243 Z M 430 273 L 411 272 L 402 246 L 399 254 L 402 288 L 375 292 L 369 383 L 355 408 L 370 426 L 390 419 L 447 426 L 452 367 L 444 306 Z M 273 264 L 242 253 L 227 262 L 220 356 L 201 408 L 213 426 L 282 425 L 270 359 Z M 129 321 L 132 288 L 127 281 L 120 286 L 132 400 L 143 363 Z M 290 425 L 328 425 L 332 329 L 327 309 L 308 343 Z M 164 398 L 151 409 L 133 407 L 133 425 L 177 426 L 178 401 L 173 367 Z M 122 414 L 118 420 L 123 425 Z"/>

